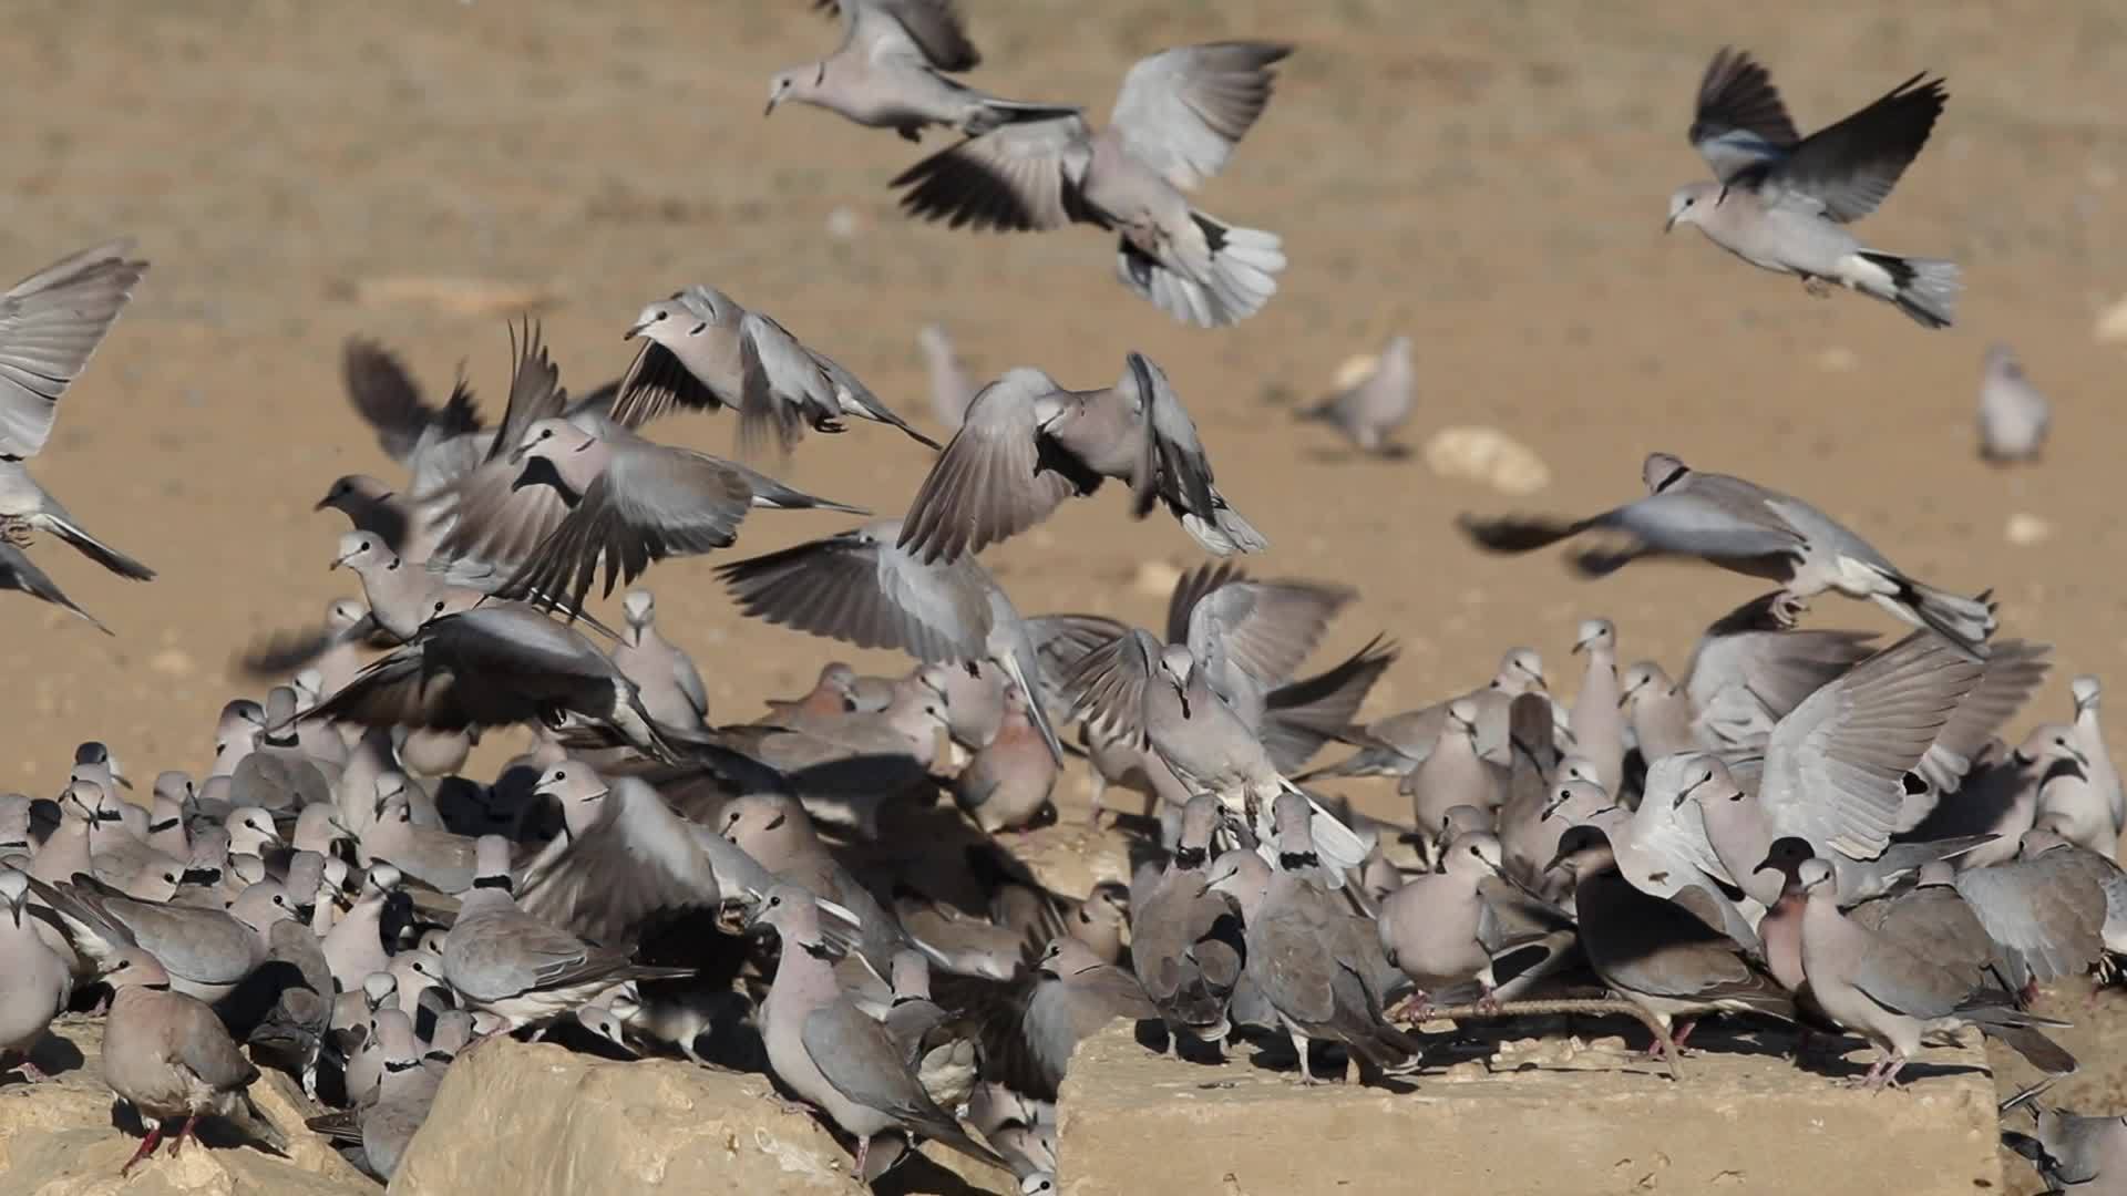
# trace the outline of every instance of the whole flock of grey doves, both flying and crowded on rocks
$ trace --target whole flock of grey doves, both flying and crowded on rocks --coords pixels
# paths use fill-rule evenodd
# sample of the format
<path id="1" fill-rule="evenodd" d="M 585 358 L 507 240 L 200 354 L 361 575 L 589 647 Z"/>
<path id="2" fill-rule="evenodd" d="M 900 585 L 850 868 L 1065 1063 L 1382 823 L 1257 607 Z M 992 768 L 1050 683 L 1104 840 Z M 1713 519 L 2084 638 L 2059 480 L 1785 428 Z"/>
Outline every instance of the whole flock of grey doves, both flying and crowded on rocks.
<path id="1" fill-rule="evenodd" d="M 1187 196 L 1289 47 L 1146 57 L 1095 132 L 1076 106 L 957 83 L 976 53 L 951 0 L 821 4 L 847 36 L 776 74 L 770 111 L 964 134 L 898 179 L 910 213 L 1112 230 L 1121 281 L 1202 326 L 1272 298 L 1278 238 Z M 1765 68 L 1723 51 L 1691 123 L 1719 179 L 1678 189 L 1670 226 L 1946 326 L 1953 264 L 1848 232 L 1942 106 L 1942 83 L 1914 77 L 1802 138 Z M 0 577 L 83 619 L 23 553 L 34 538 L 153 572 L 28 462 L 145 270 L 115 243 L 0 298 Z M 2048 649 L 1995 638 L 1987 594 L 1910 577 L 1802 498 L 1653 453 L 1646 494 L 1612 511 L 1463 517 L 1489 551 L 1585 536 L 1570 560 L 1589 577 L 1695 558 L 1776 589 L 1708 619 L 1674 672 L 1621 668 L 1617 628 L 1589 619 L 1570 704 L 1517 647 L 1463 694 L 1359 724 L 1393 647 L 1302 675 L 1349 587 L 1206 564 L 1142 630 L 1021 613 L 976 560 L 1110 479 L 1132 515 L 1163 509 L 1212 555 L 1266 547 L 1144 355 L 1095 389 L 1036 368 L 972 387 L 925 330 L 953 426 L 940 447 L 706 285 L 644 306 L 625 377 L 589 398 L 570 398 L 534 326 L 510 336 L 498 426 L 464 383 L 432 404 L 387 349 L 349 340 L 353 409 L 406 481 L 330 485 L 319 509 L 351 524 L 332 562 L 359 598 L 255 645 L 247 666 L 272 685 L 221 709 L 204 779 L 162 773 L 128 800 L 121 764 L 87 743 L 57 798 L 0 798 L 0 1060 L 40 1079 L 32 1047 L 94 1004 L 102 1079 L 145 1128 L 128 1170 L 200 1117 L 281 1145 L 291 1128 L 247 1096 L 268 1066 L 330 1107 L 313 1130 L 389 1179 L 459 1051 L 540 1034 L 768 1070 L 851 1143 L 859 1183 L 934 1141 L 1042 1192 L 1057 1085 L 1112 1019 L 1163 1024 L 1176 1056 L 1246 1045 L 1300 1083 L 1357 1064 L 1395 1085 L 1383 1077 L 1419 1077 L 1455 1034 L 1442 1013 L 1593 996 L 1625 1002 L 1672 1073 L 1697 1021 L 1734 1017 L 1842 1077 L 1827 1083 L 1897 1087 L 1963 1028 L 2074 1070 L 2033 992 L 2127 951 L 2127 800 L 2099 683 L 2076 679 L 2067 721 L 2004 743 Z M 1393 343 L 1306 415 L 1385 447 L 1410 411 L 1408 358 Z M 2006 351 L 1982 396 L 1984 451 L 2033 455 L 2044 400 Z M 906 651 L 912 672 L 832 664 L 751 724 L 710 724 L 700 672 L 632 585 L 730 549 L 755 509 L 868 515 L 642 436 L 723 406 L 755 462 L 847 419 L 936 451 L 902 517 L 717 568 L 747 615 Z M 625 587 L 623 628 L 585 613 L 593 585 Z M 1825 594 L 1914 630 L 1799 626 Z M 525 751 L 491 781 L 459 775 L 498 728 L 527 728 Z M 1015 832 L 1057 817 L 1072 730 L 1102 787 L 1095 830 L 1125 836 L 1136 866 L 1091 894 L 1051 892 L 1015 856 Z M 1306 770 L 1329 745 L 1346 755 Z M 1410 821 L 1325 798 L 1317 777 L 1393 779 Z M 1857 1036 L 1874 1066 L 1808 1062 L 1795 1028 Z M 2063 1183 L 2127 1175 L 2123 1119 L 2038 1094 L 2012 1102 L 2036 1119 L 2016 1149 Z"/>

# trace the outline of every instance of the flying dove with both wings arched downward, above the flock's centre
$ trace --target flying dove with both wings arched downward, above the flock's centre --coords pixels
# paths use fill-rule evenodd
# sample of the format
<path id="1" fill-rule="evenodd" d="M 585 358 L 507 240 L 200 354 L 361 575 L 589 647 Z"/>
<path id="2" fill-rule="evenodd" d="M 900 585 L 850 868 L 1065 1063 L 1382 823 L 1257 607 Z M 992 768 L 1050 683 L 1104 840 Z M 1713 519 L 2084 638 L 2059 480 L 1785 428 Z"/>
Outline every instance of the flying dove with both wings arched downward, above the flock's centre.
<path id="1" fill-rule="evenodd" d="M 925 564 L 957 560 L 1106 479 L 1129 483 L 1134 517 L 1163 502 L 1206 551 L 1268 547 L 1219 494 L 1195 421 L 1142 353 L 1125 355 L 1121 381 L 1104 389 L 1064 389 L 1032 366 L 978 389 L 908 502 L 900 547 Z"/>

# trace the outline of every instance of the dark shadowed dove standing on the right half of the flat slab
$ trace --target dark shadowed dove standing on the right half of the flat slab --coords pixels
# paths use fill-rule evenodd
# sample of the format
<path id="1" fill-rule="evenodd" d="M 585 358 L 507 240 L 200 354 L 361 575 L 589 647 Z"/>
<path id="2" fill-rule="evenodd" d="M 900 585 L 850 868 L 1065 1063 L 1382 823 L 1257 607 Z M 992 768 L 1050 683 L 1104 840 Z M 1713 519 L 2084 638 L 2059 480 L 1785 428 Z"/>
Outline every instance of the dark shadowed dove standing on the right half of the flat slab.
<path id="1" fill-rule="evenodd" d="M 1614 845 L 1600 826 L 1568 830 L 1553 866 L 1574 873 L 1574 911 L 1589 966 L 1604 985 L 1661 1026 L 1653 1047 L 1661 1058 L 1674 1062 L 1691 1026 L 1706 1013 L 1793 1019 L 1787 990 L 1761 973 L 1729 934 L 1708 926 L 1695 907 L 1642 892 L 1619 873 Z"/>

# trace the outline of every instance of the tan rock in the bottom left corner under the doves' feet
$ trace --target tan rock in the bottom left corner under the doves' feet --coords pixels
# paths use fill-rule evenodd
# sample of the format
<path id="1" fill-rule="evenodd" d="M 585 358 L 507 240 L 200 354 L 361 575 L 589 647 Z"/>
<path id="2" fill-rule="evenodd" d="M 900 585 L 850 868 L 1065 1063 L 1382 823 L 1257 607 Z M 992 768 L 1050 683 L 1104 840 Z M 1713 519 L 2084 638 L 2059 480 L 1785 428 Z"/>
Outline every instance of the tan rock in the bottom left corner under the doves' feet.
<path id="1" fill-rule="evenodd" d="M 206 1122 L 213 1147 L 189 1143 L 170 1158 L 157 1147 L 130 1177 L 119 1168 L 140 1139 L 117 1130 L 117 1098 L 100 1079 L 104 1024 L 100 1017 L 64 1017 L 34 1051 L 53 1083 L 0 1087 L 0 1192 L 83 1196 L 121 1192 L 211 1192 L 215 1196 L 374 1196 L 376 1185 L 347 1164 L 332 1145 L 302 1126 L 317 1113 L 279 1075 L 251 1085 L 259 1111 L 287 1136 L 287 1158 L 257 1147 L 225 1145 L 230 1130 Z M 130 1119 L 128 1119 L 130 1124 Z"/>

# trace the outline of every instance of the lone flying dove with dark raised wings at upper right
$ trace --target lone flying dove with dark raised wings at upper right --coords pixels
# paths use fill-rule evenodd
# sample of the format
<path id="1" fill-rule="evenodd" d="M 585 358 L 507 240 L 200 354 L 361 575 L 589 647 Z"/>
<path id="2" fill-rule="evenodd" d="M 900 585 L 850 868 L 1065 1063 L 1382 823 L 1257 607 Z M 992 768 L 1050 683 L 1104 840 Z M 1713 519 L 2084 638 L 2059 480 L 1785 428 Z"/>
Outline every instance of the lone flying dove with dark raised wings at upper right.
<path id="1" fill-rule="evenodd" d="M 1891 196 L 1946 100 L 1942 79 L 1921 72 L 1804 138 L 1772 74 L 1748 53 L 1721 49 L 1691 119 L 1691 145 L 1716 181 L 1678 187 L 1665 228 L 1695 226 L 1753 266 L 1802 277 L 1810 294 L 1840 283 L 1897 304 L 1923 328 L 1948 328 L 1961 285 L 1955 262 L 1878 253 L 1846 230 Z"/>

